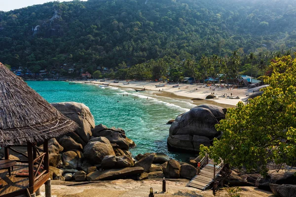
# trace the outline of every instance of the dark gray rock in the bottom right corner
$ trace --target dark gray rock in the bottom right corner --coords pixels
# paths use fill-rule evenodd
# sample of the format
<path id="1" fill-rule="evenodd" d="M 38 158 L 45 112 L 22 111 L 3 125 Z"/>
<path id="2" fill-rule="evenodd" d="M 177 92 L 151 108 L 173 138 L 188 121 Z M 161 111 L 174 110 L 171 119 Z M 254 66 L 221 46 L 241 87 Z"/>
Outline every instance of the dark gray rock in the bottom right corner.
<path id="1" fill-rule="evenodd" d="M 279 197 L 296 197 L 296 185 L 277 185 L 270 184 L 272 193 Z"/>

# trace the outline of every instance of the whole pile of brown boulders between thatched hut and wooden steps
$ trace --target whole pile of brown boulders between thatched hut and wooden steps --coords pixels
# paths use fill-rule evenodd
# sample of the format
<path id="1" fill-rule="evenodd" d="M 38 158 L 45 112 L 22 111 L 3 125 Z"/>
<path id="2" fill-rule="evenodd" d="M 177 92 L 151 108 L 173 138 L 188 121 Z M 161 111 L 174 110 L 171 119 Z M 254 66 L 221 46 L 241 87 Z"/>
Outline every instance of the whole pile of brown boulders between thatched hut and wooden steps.
<path id="1" fill-rule="evenodd" d="M 96 126 L 89 108 L 82 103 L 61 102 L 52 105 L 74 120 L 79 128 L 49 140 L 51 179 L 62 181 L 124 178 L 144 180 L 163 177 L 192 179 L 196 174 L 194 166 L 172 160 L 163 153 L 145 153 L 133 158 L 129 149 L 136 144 L 126 137 L 125 131 L 108 128 L 102 124 Z"/>

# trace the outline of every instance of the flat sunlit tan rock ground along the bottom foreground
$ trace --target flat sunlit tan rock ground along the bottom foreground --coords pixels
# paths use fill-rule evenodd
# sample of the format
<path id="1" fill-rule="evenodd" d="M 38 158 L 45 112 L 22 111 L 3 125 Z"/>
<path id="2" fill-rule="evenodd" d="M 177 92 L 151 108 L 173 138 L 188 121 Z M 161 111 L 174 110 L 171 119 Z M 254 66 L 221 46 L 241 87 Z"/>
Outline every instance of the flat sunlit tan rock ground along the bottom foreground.
<path id="1" fill-rule="evenodd" d="M 150 187 L 153 188 L 154 197 L 214 197 L 213 191 L 200 191 L 186 187 L 188 180 L 178 179 L 167 181 L 165 193 L 162 192 L 161 180 L 134 181 L 119 179 L 114 181 L 100 181 L 96 183 L 75 183 L 51 181 L 51 193 L 55 197 L 148 197 Z M 241 197 L 272 197 L 271 192 L 262 191 L 255 187 L 241 187 Z M 44 197 L 44 185 L 40 188 Z M 227 191 L 222 189 L 216 196 L 228 197 Z"/>

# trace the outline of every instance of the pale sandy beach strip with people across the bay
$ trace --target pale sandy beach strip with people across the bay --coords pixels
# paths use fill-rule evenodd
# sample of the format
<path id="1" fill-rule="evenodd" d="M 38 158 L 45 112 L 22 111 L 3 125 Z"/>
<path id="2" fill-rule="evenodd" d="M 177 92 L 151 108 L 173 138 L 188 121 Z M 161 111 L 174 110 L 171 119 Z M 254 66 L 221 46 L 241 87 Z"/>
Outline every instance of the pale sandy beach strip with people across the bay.
<path id="1" fill-rule="evenodd" d="M 119 83 L 113 83 L 114 80 L 105 80 L 105 82 L 91 81 L 91 84 L 99 84 L 103 85 L 103 83 L 110 83 L 109 86 L 121 87 L 121 88 L 132 88 L 132 89 L 143 89 L 145 88 L 148 91 L 155 91 L 155 95 L 168 97 L 172 99 L 203 99 L 204 103 L 210 104 L 218 104 L 222 107 L 233 107 L 239 101 L 246 98 L 248 94 L 247 87 L 240 89 L 227 89 L 227 88 L 204 88 L 203 85 L 190 85 L 190 84 L 179 84 L 179 87 L 173 88 L 173 85 L 176 84 L 167 84 L 167 83 L 159 83 L 159 82 L 147 82 L 147 81 L 131 81 L 129 84 L 124 85 L 126 81 L 119 81 Z M 76 81 L 84 83 L 84 81 Z M 156 88 L 155 85 L 163 84 L 165 87 Z M 206 99 L 208 95 L 214 95 L 217 97 L 215 99 Z M 227 95 L 232 97 L 239 97 L 240 99 L 229 99 L 229 98 L 219 98 L 222 95 Z M 200 104 L 202 100 L 193 100 L 193 104 Z"/>

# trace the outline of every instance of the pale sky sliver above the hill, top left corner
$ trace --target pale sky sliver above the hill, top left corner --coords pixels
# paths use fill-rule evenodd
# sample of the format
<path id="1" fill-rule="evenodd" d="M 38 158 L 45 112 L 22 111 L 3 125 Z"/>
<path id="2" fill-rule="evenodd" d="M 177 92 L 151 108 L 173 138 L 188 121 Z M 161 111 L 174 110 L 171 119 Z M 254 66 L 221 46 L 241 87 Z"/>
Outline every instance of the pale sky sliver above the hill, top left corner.
<path id="1" fill-rule="evenodd" d="M 13 9 L 19 9 L 22 7 L 27 7 L 30 5 L 43 4 L 54 0 L 0 0 L 0 11 L 10 11 Z M 72 1 L 72 0 L 60 0 L 62 1 Z M 86 0 L 83 0 L 86 1 Z"/>

